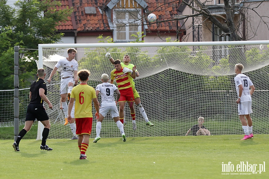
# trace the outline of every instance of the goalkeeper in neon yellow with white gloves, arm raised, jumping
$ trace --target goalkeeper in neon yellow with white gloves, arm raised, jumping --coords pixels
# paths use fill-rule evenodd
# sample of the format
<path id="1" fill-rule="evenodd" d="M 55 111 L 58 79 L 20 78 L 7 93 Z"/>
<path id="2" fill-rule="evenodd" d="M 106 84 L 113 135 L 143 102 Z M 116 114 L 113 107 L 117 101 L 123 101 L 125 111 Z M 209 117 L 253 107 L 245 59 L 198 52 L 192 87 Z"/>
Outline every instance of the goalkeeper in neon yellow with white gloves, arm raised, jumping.
<path id="1" fill-rule="evenodd" d="M 106 53 L 106 58 L 109 59 L 109 61 L 114 64 L 114 59 L 111 57 L 111 54 L 110 53 Z M 131 59 L 130 59 L 130 56 L 129 55 L 124 55 L 123 57 L 123 62 L 121 62 L 121 66 L 124 68 L 123 69 L 123 73 L 127 73 L 127 72 L 130 72 L 132 73 L 132 69 L 134 67 L 133 64 L 130 63 Z M 137 70 L 135 70 L 135 76 L 138 77 L 139 76 L 139 72 Z M 134 98 L 135 98 L 135 104 L 136 106 L 138 107 L 140 113 L 142 114 L 143 118 L 145 119 L 146 121 L 146 125 L 147 126 L 154 126 L 154 124 L 152 124 L 149 119 L 148 119 L 148 116 L 145 112 L 145 109 L 143 108 L 142 104 L 141 104 L 141 101 L 140 101 L 140 96 L 138 94 L 138 92 L 136 91 L 135 89 L 135 82 L 134 80 L 132 79 L 132 89 L 133 89 L 133 93 L 134 93 Z M 126 126 L 126 121 L 124 120 L 124 117 L 123 118 L 120 118 L 120 121 L 123 123 L 123 126 L 125 127 Z M 133 124 L 133 129 L 134 129 L 134 124 Z M 135 127 L 136 129 L 136 127 Z M 134 130 L 135 130 L 134 129 Z"/>

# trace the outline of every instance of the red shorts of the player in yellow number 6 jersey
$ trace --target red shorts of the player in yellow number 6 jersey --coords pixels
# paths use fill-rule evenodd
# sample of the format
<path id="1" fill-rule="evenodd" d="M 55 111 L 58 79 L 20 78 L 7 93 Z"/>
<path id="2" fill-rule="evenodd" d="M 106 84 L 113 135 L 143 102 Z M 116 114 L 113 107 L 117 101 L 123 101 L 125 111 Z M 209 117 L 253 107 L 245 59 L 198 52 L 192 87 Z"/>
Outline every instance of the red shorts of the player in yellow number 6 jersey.
<path id="1" fill-rule="evenodd" d="M 91 135 L 92 118 L 75 118 L 76 120 L 76 134 L 88 134 Z"/>

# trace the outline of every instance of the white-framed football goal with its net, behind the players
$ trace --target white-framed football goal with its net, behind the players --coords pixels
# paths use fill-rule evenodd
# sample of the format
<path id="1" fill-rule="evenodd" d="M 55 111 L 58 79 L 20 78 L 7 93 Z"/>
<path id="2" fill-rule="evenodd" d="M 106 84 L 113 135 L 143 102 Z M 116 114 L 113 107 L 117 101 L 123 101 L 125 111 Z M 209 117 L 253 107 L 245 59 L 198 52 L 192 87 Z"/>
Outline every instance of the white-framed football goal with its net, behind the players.
<path id="1" fill-rule="evenodd" d="M 125 128 L 128 137 L 185 135 L 198 117 L 213 135 L 243 134 L 237 115 L 236 88 L 233 78 L 237 63 L 244 65 L 244 74 L 256 87 L 252 99 L 253 132 L 268 134 L 269 41 L 225 42 L 163 42 L 163 43 L 100 43 L 100 44 L 39 44 L 37 66 L 49 77 L 57 61 L 67 56 L 68 48 L 76 48 L 78 70 L 91 72 L 88 84 L 96 87 L 101 75 L 110 77 L 114 66 L 105 57 L 116 59 L 128 54 L 140 74 L 135 88 L 149 120 L 148 127 L 135 106 L 137 130 L 132 130 L 129 107 L 125 107 Z M 57 72 L 48 87 L 48 99 L 54 108 L 48 111 L 51 122 L 49 138 L 71 138 L 69 124 L 59 109 L 60 74 Z M 116 84 L 116 83 L 114 83 Z M 99 99 L 100 101 L 100 99 Z M 47 104 L 45 104 L 47 105 Z M 48 109 L 48 107 L 46 107 Z M 93 112 L 95 111 L 93 105 Z M 93 119 L 91 138 L 96 135 Z M 42 138 L 42 130 L 38 139 Z M 107 115 L 102 123 L 102 137 L 120 137 L 120 132 Z"/>

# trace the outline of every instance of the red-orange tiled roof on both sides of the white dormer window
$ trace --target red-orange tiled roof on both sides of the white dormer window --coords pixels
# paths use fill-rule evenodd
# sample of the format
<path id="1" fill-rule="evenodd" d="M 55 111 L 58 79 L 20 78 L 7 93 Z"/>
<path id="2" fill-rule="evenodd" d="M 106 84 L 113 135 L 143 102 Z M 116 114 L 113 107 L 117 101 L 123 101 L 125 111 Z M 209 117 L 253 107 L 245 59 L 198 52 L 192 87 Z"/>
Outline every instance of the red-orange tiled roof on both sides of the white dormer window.
<path id="1" fill-rule="evenodd" d="M 74 11 L 71 17 L 68 17 L 68 21 L 61 23 L 57 26 L 57 30 L 77 30 L 77 31 L 109 31 L 108 20 L 106 13 L 103 11 L 101 14 L 100 9 L 104 10 L 106 4 L 110 0 L 61 0 L 61 7 L 58 9 L 64 9 L 73 7 Z M 177 14 L 178 4 L 175 2 L 164 3 L 163 0 L 144 0 L 148 7 L 146 10 L 154 13 L 157 16 L 158 21 L 169 20 L 173 18 L 173 15 Z M 173 0 L 171 0 L 173 1 Z M 70 6 L 70 4 L 71 6 Z M 95 7 L 96 14 L 85 14 L 84 7 Z M 98 8 L 99 7 L 99 8 Z M 101 11 L 102 11 L 101 10 Z M 73 21 L 72 21 L 73 20 Z M 150 24 L 148 26 L 150 31 L 175 31 L 176 30 L 176 21 L 161 22 L 157 24 Z"/>

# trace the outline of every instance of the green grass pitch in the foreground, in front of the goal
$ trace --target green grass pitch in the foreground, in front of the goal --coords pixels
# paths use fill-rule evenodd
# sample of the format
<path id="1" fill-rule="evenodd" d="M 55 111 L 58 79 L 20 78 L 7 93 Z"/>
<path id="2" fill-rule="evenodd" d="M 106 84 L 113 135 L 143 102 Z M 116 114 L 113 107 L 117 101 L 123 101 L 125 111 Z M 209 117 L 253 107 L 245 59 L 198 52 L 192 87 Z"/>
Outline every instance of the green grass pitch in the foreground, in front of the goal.
<path id="1" fill-rule="evenodd" d="M 101 138 L 97 143 L 90 139 L 88 160 L 79 160 L 77 140 L 48 139 L 53 151 L 43 151 L 41 141 L 23 139 L 21 152 L 14 151 L 13 140 L 0 140 L 0 178 L 269 178 L 268 137 L 241 141 L 243 135 L 166 136 L 126 142 Z M 222 164 L 229 162 L 234 170 L 240 162 L 257 164 L 256 172 L 265 163 L 265 172 L 223 172 Z"/>

